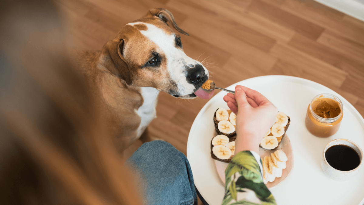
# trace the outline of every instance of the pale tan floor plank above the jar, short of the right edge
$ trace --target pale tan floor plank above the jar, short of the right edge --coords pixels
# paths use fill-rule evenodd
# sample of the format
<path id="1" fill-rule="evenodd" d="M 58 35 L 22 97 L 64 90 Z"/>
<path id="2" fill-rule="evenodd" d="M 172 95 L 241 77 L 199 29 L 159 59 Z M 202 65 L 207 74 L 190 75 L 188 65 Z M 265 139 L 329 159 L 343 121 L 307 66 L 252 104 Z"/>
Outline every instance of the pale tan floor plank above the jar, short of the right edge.
<path id="1" fill-rule="evenodd" d="M 343 84 L 348 75 L 347 72 L 288 45 L 278 43 L 270 50 L 270 54 L 294 65 L 284 65 L 282 61 L 278 61 L 275 66 L 281 65 L 281 68 L 287 66 L 289 68 L 284 69 L 290 70 L 290 72 L 296 72 L 296 69 L 301 69 L 304 73 L 322 78 L 322 81 L 337 88 Z"/>

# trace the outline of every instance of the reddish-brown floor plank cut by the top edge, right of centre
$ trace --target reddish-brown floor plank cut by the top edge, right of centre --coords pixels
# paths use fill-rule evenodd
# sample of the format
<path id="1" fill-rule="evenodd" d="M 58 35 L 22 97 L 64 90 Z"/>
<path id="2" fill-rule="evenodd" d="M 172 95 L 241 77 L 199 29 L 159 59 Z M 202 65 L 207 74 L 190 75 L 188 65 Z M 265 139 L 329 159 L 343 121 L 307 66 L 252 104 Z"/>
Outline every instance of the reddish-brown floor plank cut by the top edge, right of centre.
<path id="1" fill-rule="evenodd" d="M 313 40 L 316 40 L 324 31 L 324 28 L 314 23 L 260 0 L 254 0 L 247 10 L 291 28 L 297 33 Z"/>

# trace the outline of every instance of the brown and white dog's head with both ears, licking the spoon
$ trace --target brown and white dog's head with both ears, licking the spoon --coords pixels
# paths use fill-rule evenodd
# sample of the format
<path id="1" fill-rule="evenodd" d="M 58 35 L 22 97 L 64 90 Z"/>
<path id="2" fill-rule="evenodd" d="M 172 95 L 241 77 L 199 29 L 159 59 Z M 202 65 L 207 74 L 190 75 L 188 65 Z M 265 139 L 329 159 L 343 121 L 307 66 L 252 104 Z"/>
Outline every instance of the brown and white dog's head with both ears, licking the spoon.
<path id="1" fill-rule="evenodd" d="M 209 78 L 202 63 L 183 51 L 181 34 L 171 12 L 151 9 L 147 15 L 126 24 L 107 42 L 101 62 L 128 85 L 153 87 L 174 97 L 194 98 L 194 92 Z"/>

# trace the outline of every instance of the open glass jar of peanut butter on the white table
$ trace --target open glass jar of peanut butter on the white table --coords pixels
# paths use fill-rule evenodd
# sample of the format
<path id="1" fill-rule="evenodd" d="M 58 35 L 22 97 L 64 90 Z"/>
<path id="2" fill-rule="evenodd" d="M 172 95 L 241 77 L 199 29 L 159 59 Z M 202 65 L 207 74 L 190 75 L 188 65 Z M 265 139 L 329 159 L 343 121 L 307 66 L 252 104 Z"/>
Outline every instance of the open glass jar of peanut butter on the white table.
<path id="1" fill-rule="evenodd" d="M 335 134 L 343 119 L 343 104 L 336 96 L 319 94 L 308 105 L 306 128 L 318 137 L 326 138 Z"/>

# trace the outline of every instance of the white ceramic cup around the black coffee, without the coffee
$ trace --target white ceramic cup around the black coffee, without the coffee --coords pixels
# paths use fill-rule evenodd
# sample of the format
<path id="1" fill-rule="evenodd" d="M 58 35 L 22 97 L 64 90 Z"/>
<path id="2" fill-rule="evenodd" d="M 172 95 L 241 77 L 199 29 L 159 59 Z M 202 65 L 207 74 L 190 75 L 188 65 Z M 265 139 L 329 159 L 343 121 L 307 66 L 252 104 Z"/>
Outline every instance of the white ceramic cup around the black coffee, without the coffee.
<path id="1" fill-rule="evenodd" d="M 337 169 L 333 168 L 331 165 L 329 165 L 329 163 L 327 162 L 326 157 L 325 157 L 326 151 L 328 148 L 330 148 L 334 145 L 339 145 L 339 144 L 349 146 L 349 147 L 353 148 L 353 150 L 356 151 L 356 153 L 359 155 L 359 159 L 360 159 L 359 166 L 357 166 L 353 170 L 341 171 L 341 170 L 337 170 Z M 359 172 L 360 167 L 363 166 L 362 164 L 363 164 L 363 151 L 360 149 L 360 147 L 357 144 L 355 144 L 354 142 L 352 142 L 351 140 L 348 140 L 348 139 L 335 139 L 335 140 L 332 140 L 331 142 L 329 142 L 324 149 L 323 159 L 321 160 L 321 167 L 322 167 L 322 170 L 324 171 L 324 173 L 328 177 L 330 177 L 331 179 L 334 179 L 336 181 L 347 181 L 347 180 L 351 179 Z"/>

